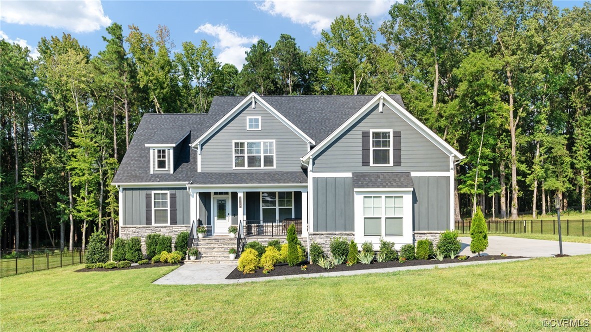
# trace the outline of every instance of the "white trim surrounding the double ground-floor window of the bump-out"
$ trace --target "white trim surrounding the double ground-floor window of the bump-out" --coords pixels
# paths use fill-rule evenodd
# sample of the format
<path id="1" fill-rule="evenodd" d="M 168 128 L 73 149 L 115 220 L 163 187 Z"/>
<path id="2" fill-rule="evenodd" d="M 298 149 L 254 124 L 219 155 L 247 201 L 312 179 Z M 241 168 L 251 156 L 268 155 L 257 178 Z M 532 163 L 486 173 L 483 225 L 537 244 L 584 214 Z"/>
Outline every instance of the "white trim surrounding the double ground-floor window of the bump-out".
<path id="1" fill-rule="evenodd" d="M 385 224 L 382 225 L 382 234 L 384 236 L 365 236 L 363 223 L 363 197 L 365 196 L 382 196 L 382 221 L 385 220 L 384 196 L 402 196 L 402 235 L 401 236 L 385 236 Z M 413 191 L 387 191 L 381 188 L 376 188 L 374 191 L 358 191 L 355 190 L 355 242 L 363 243 L 369 241 L 374 245 L 374 249 L 379 248 L 379 238 L 392 241 L 396 244 L 396 248 L 400 249 L 402 245 L 413 243 Z"/>

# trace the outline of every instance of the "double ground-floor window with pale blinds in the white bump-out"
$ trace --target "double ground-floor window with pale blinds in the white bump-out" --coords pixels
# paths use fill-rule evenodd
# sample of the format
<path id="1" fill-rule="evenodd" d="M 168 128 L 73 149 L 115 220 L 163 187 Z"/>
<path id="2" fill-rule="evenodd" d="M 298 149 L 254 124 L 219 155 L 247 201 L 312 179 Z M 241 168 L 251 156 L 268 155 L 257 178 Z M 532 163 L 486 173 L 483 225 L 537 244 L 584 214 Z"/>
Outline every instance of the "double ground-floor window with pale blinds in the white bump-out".
<path id="1" fill-rule="evenodd" d="M 402 196 L 363 196 L 363 235 L 402 236 Z"/>

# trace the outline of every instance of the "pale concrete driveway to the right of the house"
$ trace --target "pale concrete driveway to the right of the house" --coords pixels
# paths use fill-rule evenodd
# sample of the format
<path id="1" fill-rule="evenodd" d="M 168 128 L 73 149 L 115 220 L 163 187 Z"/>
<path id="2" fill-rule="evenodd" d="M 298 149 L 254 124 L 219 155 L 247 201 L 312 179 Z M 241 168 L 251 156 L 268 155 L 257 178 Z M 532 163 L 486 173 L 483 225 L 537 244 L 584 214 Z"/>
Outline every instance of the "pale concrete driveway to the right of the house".
<path id="1" fill-rule="evenodd" d="M 458 239 L 462 242 L 460 255 L 475 255 L 470 252 L 470 237 L 458 237 Z M 591 254 L 591 243 L 563 242 L 562 251 L 571 256 Z M 556 255 L 559 249 L 558 241 L 489 236 L 485 255 L 501 255 L 502 252 L 508 256 L 544 257 Z"/>

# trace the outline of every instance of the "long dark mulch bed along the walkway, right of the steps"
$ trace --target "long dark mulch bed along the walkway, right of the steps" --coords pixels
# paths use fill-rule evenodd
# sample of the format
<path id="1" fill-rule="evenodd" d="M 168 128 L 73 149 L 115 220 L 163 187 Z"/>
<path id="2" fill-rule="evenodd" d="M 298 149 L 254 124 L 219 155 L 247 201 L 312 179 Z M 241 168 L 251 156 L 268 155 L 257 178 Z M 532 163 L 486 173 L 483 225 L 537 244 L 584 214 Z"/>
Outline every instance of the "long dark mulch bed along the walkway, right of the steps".
<path id="1" fill-rule="evenodd" d="M 346 264 L 336 265 L 333 269 L 324 269 L 320 266 L 314 264 L 308 264 L 308 268 L 306 271 L 302 271 L 300 265 L 297 266 L 289 266 L 286 263 L 275 265 L 275 269 L 269 274 L 263 274 L 262 269 L 257 269 L 253 274 L 243 274 L 242 272 L 238 271 L 238 269 L 234 269 L 226 279 L 244 279 L 244 278 L 259 278 L 265 276 L 280 276 L 280 275 L 304 275 L 304 274 L 314 274 L 314 273 L 323 273 L 323 272 L 340 272 L 340 271 L 355 271 L 355 270 L 368 270 L 368 269 L 385 269 L 385 268 L 400 268 L 402 266 L 418 266 L 418 265 L 437 265 L 437 264 L 445 264 L 445 263 L 462 263 L 462 262 L 476 262 L 476 261 L 502 261 L 504 259 L 514 259 L 514 258 L 525 258 L 522 256 L 500 256 L 500 255 L 490 255 L 490 256 L 474 256 L 464 261 L 460 261 L 459 259 L 451 259 L 445 258 L 443 261 L 438 261 L 437 259 L 433 259 L 430 261 L 425 261 L 423 259 L 417 259 L 414 261 L 406 261 L 404 263 L 399 263 L 398 261 L 390 261 L 390 262 L 374 262 L 371 264 L 361 264 L 357 263 L 353 266 L 347 266 Z"/>

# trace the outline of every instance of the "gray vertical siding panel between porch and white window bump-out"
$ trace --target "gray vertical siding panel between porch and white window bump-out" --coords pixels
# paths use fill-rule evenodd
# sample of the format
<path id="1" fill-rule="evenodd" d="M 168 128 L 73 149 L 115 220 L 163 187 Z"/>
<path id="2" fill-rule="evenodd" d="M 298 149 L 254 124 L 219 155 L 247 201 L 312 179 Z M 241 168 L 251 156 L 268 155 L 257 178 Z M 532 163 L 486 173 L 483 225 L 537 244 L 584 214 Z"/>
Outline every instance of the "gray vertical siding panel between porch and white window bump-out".
<path id="1" fill-rule="evenodd" d="M 314 232 L 353 232 L 353 178 L 313 178 Z"/>

